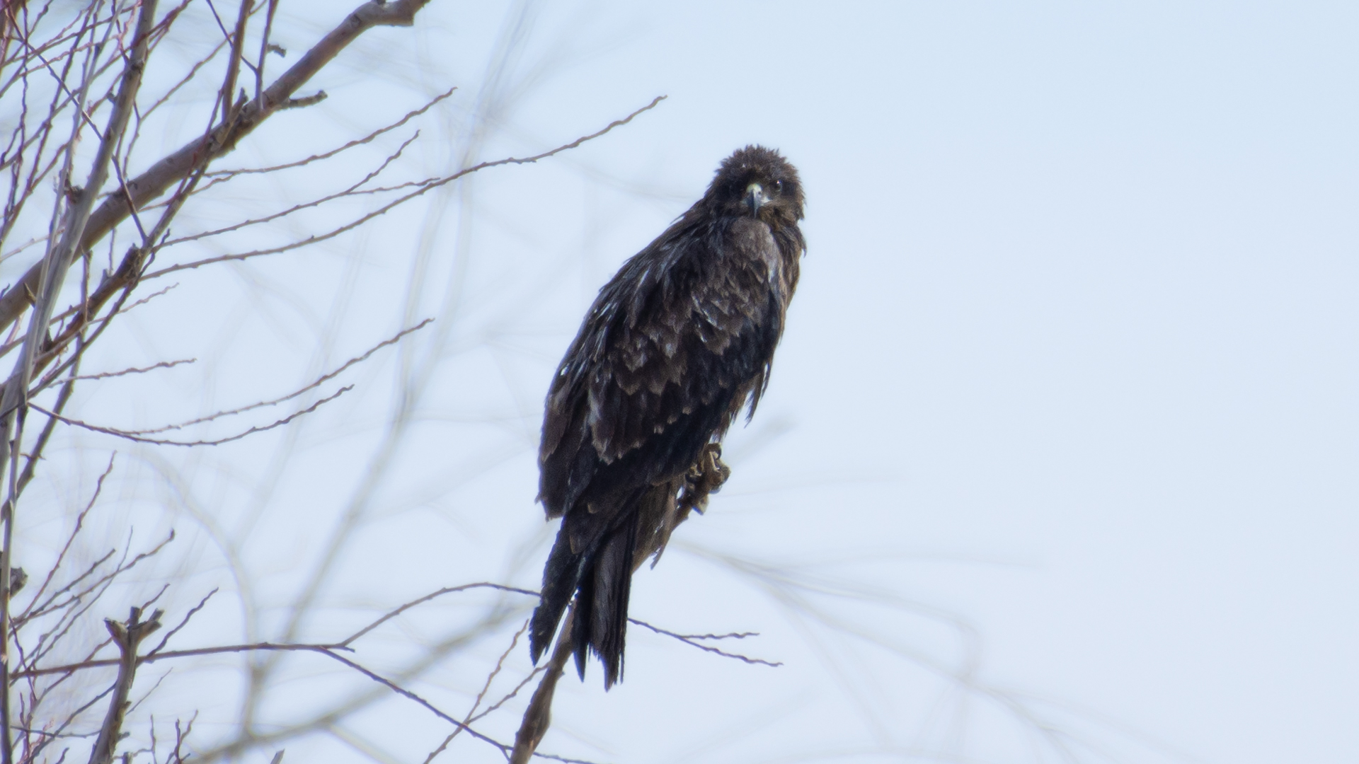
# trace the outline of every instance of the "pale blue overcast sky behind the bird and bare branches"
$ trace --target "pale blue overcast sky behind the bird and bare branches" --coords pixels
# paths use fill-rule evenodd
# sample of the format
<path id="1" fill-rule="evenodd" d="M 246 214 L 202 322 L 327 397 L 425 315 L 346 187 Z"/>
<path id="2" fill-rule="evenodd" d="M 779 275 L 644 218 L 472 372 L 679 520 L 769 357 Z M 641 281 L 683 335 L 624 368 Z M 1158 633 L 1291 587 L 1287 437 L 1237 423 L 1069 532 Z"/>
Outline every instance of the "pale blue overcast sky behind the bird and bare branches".
<path id="1" fill-rule="evenodd" d="M 280 44 L 299 52 L 340 19 L 326 3 L 280 14 Z M 325 103 L 276 117 L 228 164 L 304 156 L 453 86 L 398 171 L 545 151 L 667 99 L 287 262 L 183 275 L 101 352 L 110 367 L 204 360 L 155 394 L 109 385 L 77 402 L 120 426 L 194 416 L 438 315 L 420 334 L 428 352 L 383 356 L 296 434 L 133 450 L 124 511 L 182 529 L 188 589 L 230 578 L 220 538 L 241 540 L 260 621 L 223 608 L 209 623 L 268 632 L 318 553 L 315 518 L 361 483 L 394 371 L 414 370 L 421 416 L 325 590 L 338 614 L 303 631 L 323 639 L 364 620 L 347 609 L 450 583 L 534 587 L 554 532 L 533 503 L 541 400 L 584 309 L 734 148 L 776 147 L 806 188 L 807 257 L 772 385 L 728 436 L 734 476 L 711 511 L 637 574 L 632 614 L 758 631 L 739 650 L 784 666 L 633 627 L 622 685 L 603 693 L 598 665 L 584 685 L 568 673 L 544 749 L 1355 761 L 1355 29 L 1359 5 L 1306 1 L 438 0 L 414 29 L 364 35 L 308 86 Z M 196 128 L 175 129 L 166 147 Z M 375 163 L 352 162 L 334 178 Z M 226 192 L 223 218 L 291 193 L 246 188 Z M 183 224 L 217 213 L 190 208 Z M 99 468 L 125 450 L 73 438 Z M 188 488 L 164 488 L 171 473 Z M 458 612 L 383 639 L 428 636 Z M 512 628 L 497 633 L 480 659 Z M 527 670 L 526 650 L 514 661 Z M 447 697 L 484 676 L 442 672 L 427 689 Z M 280 692 L 288 716 L 317 689 Z M 372 714 L 401 727 L 421 712 Z M 425 737 L 391 746 L 420 761 Z M 314 745 L 289 759 L 371 760 L 357 744 Z M 461 745 L 458 760 L 499 759 Z"/>

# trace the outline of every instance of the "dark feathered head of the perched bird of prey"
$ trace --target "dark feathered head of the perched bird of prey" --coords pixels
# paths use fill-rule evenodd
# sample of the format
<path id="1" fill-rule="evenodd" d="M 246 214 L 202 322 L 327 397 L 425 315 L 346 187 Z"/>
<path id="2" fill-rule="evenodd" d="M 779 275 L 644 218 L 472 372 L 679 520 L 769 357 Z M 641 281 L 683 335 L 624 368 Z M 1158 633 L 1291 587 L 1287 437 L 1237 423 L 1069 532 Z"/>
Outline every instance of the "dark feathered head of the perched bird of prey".
<path id="1" fill-rule="evenodd" d="M 738 148 L 726 158 L 705 196 L 723 215 L 753 216 L 773 227 L 802 220 L 798 170 L 762 145 Z"/>

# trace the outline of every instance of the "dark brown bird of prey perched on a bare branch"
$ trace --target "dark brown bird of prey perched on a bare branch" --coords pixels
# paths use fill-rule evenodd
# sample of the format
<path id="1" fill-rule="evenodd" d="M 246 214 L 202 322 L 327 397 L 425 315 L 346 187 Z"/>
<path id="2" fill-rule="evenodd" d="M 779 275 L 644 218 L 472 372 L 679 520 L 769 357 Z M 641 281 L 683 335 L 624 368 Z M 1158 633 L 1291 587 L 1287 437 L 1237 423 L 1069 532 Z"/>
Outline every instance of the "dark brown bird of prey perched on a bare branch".
<path id="1" fill-rule="evenodd" d="M 538 500 L 563 518 L 533 613 L 533 661 L 571 598 L 571 650 L 622 677 L 633 571 L 730 470 L 722 436 L 754 415 L 806 251 L 798 171 L 747 145 L 599 290 L 548 389 Z M 749 421 L 747 416 L 747 421 Z M 652 563 L 655 564 L 655 563 Z"/>

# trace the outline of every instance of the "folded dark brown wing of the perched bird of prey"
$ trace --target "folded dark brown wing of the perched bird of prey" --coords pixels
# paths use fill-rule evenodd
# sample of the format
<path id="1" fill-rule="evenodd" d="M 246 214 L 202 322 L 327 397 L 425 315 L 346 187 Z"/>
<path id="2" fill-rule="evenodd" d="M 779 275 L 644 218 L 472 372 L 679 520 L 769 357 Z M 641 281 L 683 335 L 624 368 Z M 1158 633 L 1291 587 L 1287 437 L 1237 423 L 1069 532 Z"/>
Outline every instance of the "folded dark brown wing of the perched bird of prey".
<path id="1" fill-rule="evenodd" d="M 682 473 L 726 430 L 733 402 L 758 387 L 781 311 L 768 273 L 724 257 L 722 242 L 720 231 L 677 223 L 599 291 L 548 392 L 540 499 L 549 517 L 587 487 Z"/>

